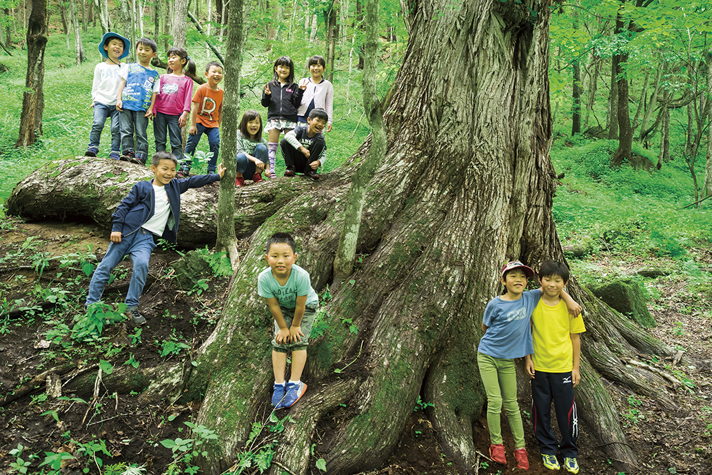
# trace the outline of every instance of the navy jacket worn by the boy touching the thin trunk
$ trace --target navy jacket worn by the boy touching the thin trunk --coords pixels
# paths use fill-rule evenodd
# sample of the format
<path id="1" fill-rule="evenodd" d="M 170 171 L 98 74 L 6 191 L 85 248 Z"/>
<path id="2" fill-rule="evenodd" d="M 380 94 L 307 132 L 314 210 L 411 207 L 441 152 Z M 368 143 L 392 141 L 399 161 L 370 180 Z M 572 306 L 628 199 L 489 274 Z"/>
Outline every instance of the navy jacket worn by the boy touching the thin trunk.
<path id="1" fill-rule="evenodd" d="M 180 219 L 180 195 L 191 188 L 204 187 L 206 184 L 217 182 L 219 174 L 204 174 L 187 179 L 174 178 L 165 185 L 170 214 L 166 229 L 161 236 L 166 241 L 175 243 L 178 239 L 178 221 Z M 111 231 L 119 231 L 121 237 L 129 236 L 138 231 L 146 221 L 151 219 L 155 212 L 156 196 L 153 192 L 153 180 L 138 182 L 128 196 L 125 197 L 116 212 L 111 215 Z"/>

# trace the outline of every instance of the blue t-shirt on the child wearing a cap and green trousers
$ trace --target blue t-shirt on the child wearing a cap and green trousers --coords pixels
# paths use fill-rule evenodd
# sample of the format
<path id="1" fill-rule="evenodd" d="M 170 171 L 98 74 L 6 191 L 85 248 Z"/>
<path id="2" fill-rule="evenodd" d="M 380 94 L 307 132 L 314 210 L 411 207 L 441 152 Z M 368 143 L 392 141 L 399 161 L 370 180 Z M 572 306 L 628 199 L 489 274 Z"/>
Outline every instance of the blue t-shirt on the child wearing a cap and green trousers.
<path id="1" fill-rule="evenodd" d="M 540 298 L 539 289 L 524 291 L 515 301 L 493 298 L 485 308 L 482 323 L 488 329 L 477 351 L 503 360 L 534 353 L 530 319 Z"/>

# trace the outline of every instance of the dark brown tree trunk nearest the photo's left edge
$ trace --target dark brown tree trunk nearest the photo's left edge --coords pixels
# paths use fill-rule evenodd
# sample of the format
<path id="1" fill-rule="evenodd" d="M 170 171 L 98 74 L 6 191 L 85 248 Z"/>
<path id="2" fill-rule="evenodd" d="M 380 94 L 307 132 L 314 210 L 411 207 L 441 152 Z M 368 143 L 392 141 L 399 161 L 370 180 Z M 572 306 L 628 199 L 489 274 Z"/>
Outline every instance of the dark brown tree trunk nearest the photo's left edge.
<path id="1" fill-rule="evenodd" d="M 27 27 L 27 75 L 22 95 L 20 131 L 15 147 L 32 145 L 42 135 L 44 52 L 47 45 L 47 0 L 33 0 Z"/>

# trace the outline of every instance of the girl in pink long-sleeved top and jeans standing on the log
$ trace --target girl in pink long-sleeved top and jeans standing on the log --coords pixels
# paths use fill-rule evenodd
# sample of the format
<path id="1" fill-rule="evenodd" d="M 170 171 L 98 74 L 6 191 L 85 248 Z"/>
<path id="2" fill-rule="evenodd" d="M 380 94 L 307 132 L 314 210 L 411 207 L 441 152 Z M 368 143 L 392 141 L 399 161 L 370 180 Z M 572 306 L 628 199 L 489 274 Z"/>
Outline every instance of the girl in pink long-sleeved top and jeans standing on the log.
<path id="1" fill-rule="evenodd" d="M 171 152 L 180 162 L 183 160 L 183 141 L 180 130 L 188 122 L 190 101 L 193 97 L 195 63 L 184 48 L 168 50 L 168 73 L 161 75 L 160 92 L 156 96 L 153 110 L 153 135 L 156 140 L 156 152 L 166 150 L 166 132 L 171 140 Z"/>

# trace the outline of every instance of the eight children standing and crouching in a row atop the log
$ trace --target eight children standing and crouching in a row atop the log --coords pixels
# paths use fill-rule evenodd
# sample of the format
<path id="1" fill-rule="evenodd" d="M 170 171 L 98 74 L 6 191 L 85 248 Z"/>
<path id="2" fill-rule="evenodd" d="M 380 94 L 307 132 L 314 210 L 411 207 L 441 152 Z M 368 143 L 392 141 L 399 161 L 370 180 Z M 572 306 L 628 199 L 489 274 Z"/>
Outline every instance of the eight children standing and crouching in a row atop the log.
<path id="1" fill-rule="evenodd" d="M 223 67 L 212 61 L 206 64 L 206 83 L 193 93 L 195 63 L 184 48 L 171 48 L 167 53 L 168 70 L 159 75 L 151 68 L 157 45 L 150 38 L 137 41 L 137 63 L 121 63 L 130 50 L 130 41 L 112 31 L 105 33 L 99 52 L 106 58 L 94 69 L 92 107 L 94 118 L 85 155 L 95 157 L 105 122 L 110 118 L 111 150 L 109 157 L 146 165 L 148 157 L 148 122 L 153 120 L 156 152 L 166 150 L 170 141 L 172 154 L 180 166 L 179 178 L 189 177 L 200 138 L 207 135 L 210 148 L 208 174 L 216 173 L 220 152 L 220 127 L 223 90 Z M 276 151 L 281 147 L 285 160 L 284 176 L 297 172 L 319 179 L 318 168 L 326 159 L 323 130 L 330 131 L 333 115 L 333 86 L 323 78 L 324 58 L 309 60 L 310 77 L 294 82 L 294 64 L 282 56 L 273 66 L 273 80 L 264 86 L 262 105 L 267 108 L 269 142 L 262 137 L 261 115 L 255 110 L 244 113 L 237 133 L 237 174 L 235 185 L 244 186 L 246 179 L 263 181 L 276 178 Z M 182 147 L 181 129 L 189 124 L 189 137 Z M 281 134 L 284 139 L 279 142 Z"/>

